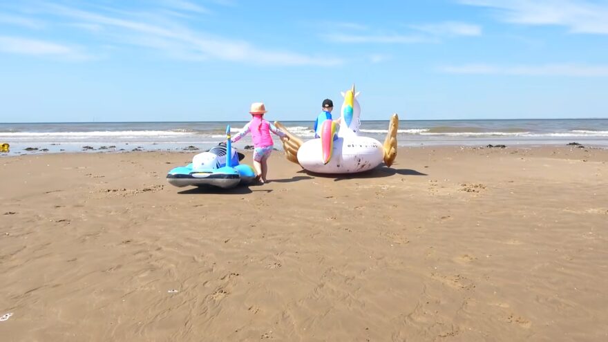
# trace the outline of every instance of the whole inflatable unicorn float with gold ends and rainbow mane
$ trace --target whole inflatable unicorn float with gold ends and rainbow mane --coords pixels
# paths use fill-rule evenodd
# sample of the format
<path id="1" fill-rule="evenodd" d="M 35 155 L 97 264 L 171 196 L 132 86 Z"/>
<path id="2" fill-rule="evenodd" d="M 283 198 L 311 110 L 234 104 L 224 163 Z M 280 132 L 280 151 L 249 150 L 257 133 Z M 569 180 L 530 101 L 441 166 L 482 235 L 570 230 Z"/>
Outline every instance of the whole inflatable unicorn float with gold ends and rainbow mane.
<path id="1" fill-rule="evenodd" d="M 361 106 L 357 101 L 359 93 L 354 91 L 354 84 L 350 90 L 341 94 L 344 103 L 337 133 L 336 122 L 325 120 L 321 126 L 321 137 L 303 142 L 289 133 L 280 122 L 274 123 L 289 135 L 289 140 L 283 141 L 287 160 L 316 173 L 357 173 L 374 169 L 382 162 L 390 167 L 397 156 L 399 116 L 393 114 L 390 118 L 386 139 L 381 144 L 372 137 L 359 135 Z"/>

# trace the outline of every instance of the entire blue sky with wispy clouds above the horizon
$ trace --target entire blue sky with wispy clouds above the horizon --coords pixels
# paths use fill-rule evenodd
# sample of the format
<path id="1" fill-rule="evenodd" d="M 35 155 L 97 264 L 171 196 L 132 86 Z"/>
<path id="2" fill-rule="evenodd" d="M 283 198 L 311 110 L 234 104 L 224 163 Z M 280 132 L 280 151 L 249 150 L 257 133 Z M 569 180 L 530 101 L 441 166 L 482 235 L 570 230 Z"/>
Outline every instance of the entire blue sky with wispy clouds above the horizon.
<path id="1" fill-rule="evenodd" d="M 608 0 L 0 0 L 0 122 L 608 117 Z"/>

